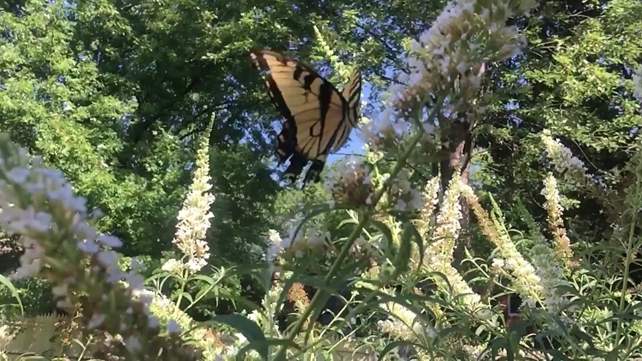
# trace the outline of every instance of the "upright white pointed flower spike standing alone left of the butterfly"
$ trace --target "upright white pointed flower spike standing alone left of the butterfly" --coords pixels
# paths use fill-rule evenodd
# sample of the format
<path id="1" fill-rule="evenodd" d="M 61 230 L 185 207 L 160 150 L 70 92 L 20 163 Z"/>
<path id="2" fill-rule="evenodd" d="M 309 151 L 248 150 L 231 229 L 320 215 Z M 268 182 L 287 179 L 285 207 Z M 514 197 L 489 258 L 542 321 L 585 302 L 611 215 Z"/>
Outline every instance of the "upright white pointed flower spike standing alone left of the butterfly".
<path id="1" fill-rule="evenodd" d="M 210 125 L 211 127 L 211 125 Z M 210 128 L 208 128 L 209 130 Z M 168 260 L 163 270 L 179 271 L 186 269 L 195 273 L 207 265 L 209 245 L 205 241 L 207 229 L 210 227 L 209 211 L 214 202 L 214 195 L 209 193 L 209 132 L 205 132 L 196 155 L 196 171 L 189 193 L 183 202 L 183 208 L 178 212 L 178 224 L 173 243 L 185 254 L 187 261 Z"/>

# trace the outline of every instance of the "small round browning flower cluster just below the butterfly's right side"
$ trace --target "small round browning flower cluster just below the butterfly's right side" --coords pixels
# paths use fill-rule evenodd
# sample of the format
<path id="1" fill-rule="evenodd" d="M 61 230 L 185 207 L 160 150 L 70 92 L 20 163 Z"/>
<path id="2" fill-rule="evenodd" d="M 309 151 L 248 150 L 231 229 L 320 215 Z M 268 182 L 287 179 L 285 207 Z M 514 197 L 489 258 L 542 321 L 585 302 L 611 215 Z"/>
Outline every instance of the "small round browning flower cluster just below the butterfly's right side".
<path id="1" fill-rule="evenodd" d="M 336 202 L 365 204 L 372 199 L 374 189 L 369 167 L 358 157 L 345 157 L 338 162 L 336 171 L 328 172 L 324 189 L 333 199 L 331 206 Z"/>

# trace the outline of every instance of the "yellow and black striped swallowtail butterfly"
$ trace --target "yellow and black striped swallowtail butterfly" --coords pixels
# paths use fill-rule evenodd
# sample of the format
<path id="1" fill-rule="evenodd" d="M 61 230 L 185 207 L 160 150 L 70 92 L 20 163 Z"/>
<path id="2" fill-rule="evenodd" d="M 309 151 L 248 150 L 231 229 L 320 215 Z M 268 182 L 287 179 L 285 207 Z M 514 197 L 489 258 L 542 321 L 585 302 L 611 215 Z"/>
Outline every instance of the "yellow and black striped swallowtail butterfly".
<path id="1" fill-rule="evenodd" d="M 268 95 L 285 118 L 276 149 L 279 164 L 290 159 L 282 179 L 294 182 L 311 161 L 303 182 L 318 182 L 327 156 L 345 145 L 360 117 L 361 72 L 338 91 L 311 67 L 276 51 L 253 49 L 250 57 L 267 73 Z"/>

